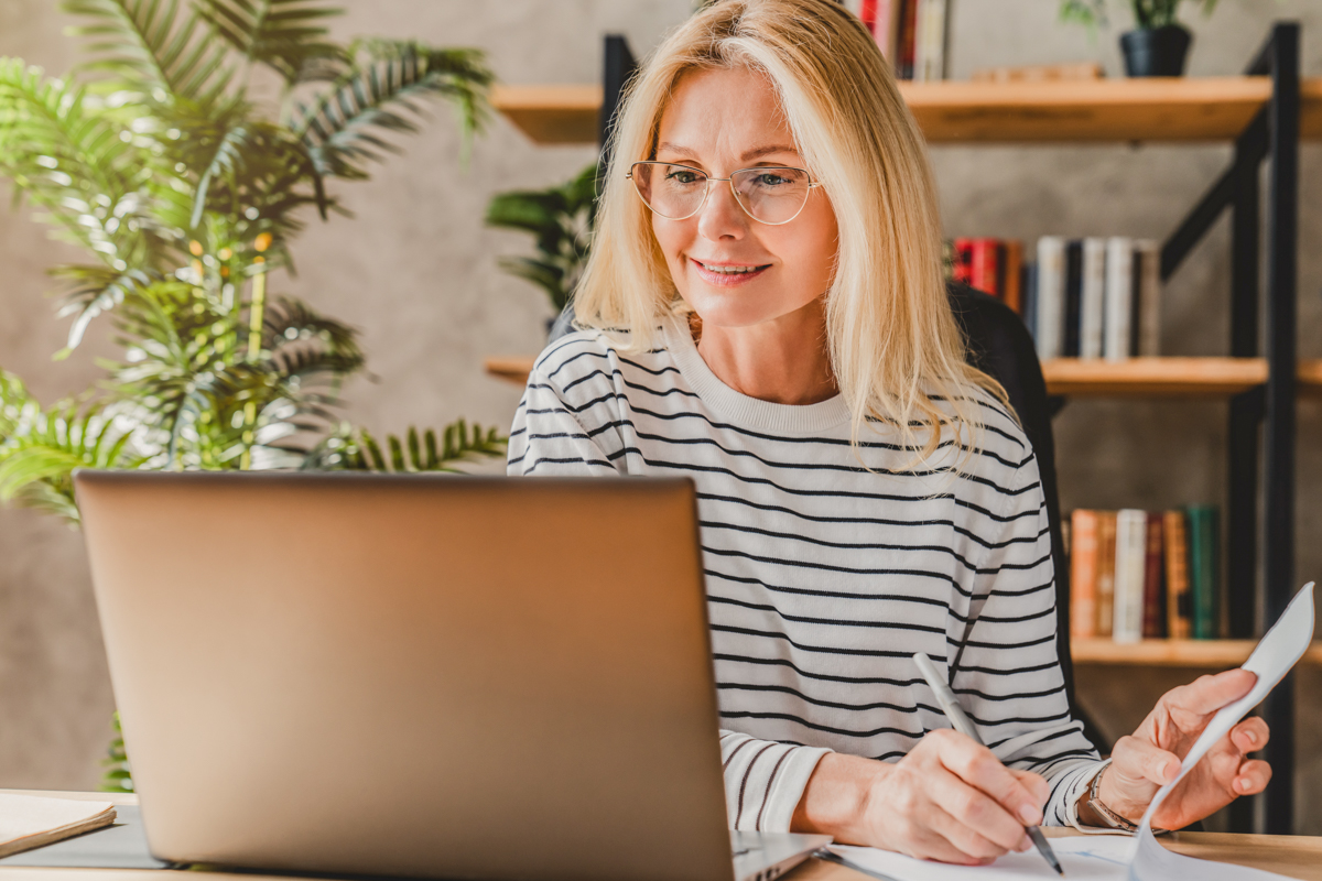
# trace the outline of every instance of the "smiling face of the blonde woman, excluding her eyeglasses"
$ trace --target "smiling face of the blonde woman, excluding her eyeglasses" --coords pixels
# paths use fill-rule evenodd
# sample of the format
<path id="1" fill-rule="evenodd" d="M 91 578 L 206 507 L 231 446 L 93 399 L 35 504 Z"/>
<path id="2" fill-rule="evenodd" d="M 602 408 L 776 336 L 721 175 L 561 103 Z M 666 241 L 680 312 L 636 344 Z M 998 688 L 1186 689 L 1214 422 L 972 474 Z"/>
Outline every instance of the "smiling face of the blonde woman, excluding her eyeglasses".
<path id="1" fill-rule="evenodd" d="M 656 160 L 699 168 L 711 177 L 759 165 L 806 168 L 793 145 L 764 75 L 703 70 L 680 79 L 661 116 Z M 680 296 L 702 317 L 703 328 L 776 321 L 814 304 L 830 287 L 838 227 L 821 188 L 812 189 L 793 221 L 769 226 L 739 207 L 730 184 L 713 182 L 701 211 L 683 221 L 653 214 L 652 230 Z M 761 268 L 731 276 L 702 264 Z"/>

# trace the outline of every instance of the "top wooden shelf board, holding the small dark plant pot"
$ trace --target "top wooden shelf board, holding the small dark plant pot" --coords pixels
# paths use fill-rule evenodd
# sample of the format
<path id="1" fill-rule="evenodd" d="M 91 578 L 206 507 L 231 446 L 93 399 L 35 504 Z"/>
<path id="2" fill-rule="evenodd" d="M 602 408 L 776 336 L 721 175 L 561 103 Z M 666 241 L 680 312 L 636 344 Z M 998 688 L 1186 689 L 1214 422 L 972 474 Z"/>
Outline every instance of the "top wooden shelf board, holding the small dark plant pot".
<path id="1" fill-rule="evenodd" d="M 1266 77 L 1069 82 L 902 82 L 932 144 L 1233 140 L 1270 95 Z M 600 86 L 496 86 L 492 104 L 538 144 L 595 144 Z M 1300 127 L 1322 139 L 1322 78 L 1301 82 Z"/>

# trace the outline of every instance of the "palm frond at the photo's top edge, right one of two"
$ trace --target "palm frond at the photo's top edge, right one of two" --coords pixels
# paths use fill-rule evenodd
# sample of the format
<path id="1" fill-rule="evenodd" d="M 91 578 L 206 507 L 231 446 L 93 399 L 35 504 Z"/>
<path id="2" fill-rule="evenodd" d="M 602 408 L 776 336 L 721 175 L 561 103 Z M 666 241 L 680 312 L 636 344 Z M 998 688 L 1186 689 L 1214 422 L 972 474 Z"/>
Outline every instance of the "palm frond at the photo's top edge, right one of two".
<path id="1" fill-rule="evenodd" d="M 344 50 L 321 38 L 320 21 L 341 15 L 315 0 L 198 0 L 194 9 L 213 33 L 250 62 L 299 82 L 316 62 L 342 61 Z"/>

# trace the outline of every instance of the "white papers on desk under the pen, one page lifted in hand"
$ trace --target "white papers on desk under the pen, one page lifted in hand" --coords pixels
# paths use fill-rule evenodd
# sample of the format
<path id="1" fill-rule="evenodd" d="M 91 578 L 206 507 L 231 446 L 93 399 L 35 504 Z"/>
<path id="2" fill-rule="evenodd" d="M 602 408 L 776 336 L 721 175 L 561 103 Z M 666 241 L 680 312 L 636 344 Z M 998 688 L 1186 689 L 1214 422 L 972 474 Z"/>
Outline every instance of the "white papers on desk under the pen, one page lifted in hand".
<path id="1" fill-rule="evenodd" d="M 1181 763 L 1179 777 L 1167 783 L 1147 806 L 1147 815 L 1136 837 L 1091 835 L 1048 839 L 1069 881 L 1170 881 L 1170 878 L 1198 878 L 1198 881 L 1266 881 L 1285 878 L 1272 872 L 1249 869 L 1228 863 L 1212 863 L 1181 856 L 1167 851 L 1151 833 L 1151 815 L 1166 800 L 1185 774 L 1207 750 L 1224 737 L 1248 711 L 1263 701 L 1290 667 L 1303 656 L 1313 641 L 1313 582 L 1303 585 L 1281 614 L 1280 621 L 1257 643 L 1244 662 L 1244 670 L 1257 674 L 1252 691 L 1233 704 L 1223 707 L 1207 724 L 1202 736 Z M 929 863 L 874 848 L 830 845 L 830 849 L 865 872 L 887 881 L 1021 881 L 1055 878 L 1059 876 L 1036 851 L 1007 853 L 993 865 L 964 866 Z M 1288 881 L 1288 880 L 1285 880 Z"/>

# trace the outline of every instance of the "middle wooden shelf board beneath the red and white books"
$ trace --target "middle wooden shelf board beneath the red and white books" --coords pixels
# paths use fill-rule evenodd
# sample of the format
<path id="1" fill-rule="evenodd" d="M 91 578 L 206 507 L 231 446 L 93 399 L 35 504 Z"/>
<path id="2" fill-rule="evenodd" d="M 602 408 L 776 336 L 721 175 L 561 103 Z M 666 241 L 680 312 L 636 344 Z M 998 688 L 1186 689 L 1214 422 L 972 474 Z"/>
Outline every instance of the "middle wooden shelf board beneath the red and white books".
<path id="1" fill-rule="evenodd" d="M 531 357 L 496 357 L 484 363 L 492 376 L 522 386 Z M 1051 395 L 1075 398 L 1225 398 L 1266 382 L 1263 358 L 1056 358 L 1042 365 Z M 1300 391 L 1322 396 L 1322 359 L 1300 362 Z"/>

